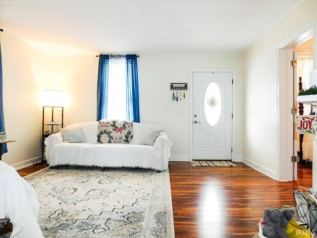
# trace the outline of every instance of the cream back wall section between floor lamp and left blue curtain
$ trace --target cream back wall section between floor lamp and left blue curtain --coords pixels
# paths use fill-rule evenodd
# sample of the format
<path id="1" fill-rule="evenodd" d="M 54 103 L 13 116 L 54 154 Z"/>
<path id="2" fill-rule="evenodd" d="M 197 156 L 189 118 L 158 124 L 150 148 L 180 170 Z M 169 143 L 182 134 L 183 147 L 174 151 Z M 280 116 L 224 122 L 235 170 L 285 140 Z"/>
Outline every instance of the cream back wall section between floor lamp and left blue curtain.
<path id="1" fill-rule="evenodd" d="M 50 88 L 60 85 L 69 102 L 64 108 L 64 125 L 97 120 L 97 78 L 99 58 L 60 56 L 50 58 Z"/>

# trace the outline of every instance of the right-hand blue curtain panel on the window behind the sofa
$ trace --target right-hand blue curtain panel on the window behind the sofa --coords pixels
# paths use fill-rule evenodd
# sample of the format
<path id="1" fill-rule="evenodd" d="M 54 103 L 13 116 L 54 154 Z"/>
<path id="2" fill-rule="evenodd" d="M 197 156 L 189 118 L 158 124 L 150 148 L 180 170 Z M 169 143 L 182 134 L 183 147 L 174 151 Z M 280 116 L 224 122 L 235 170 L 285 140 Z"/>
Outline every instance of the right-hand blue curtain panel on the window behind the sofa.
<path id="1" fill-rule="evenodd" d="M 126 55 L 126 77 L 127 119 L 140 122 L 137 55 Z"/>

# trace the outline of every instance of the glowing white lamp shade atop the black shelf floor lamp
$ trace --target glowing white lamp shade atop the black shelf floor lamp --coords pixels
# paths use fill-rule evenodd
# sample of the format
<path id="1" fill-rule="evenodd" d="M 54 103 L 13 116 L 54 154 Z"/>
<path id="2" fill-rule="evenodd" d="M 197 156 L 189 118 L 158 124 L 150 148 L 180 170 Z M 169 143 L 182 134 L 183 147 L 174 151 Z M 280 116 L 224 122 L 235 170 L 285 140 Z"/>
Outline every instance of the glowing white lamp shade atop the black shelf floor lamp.
<path id="1" fill-rule="evenodd" d="M 39 101 L 43 107 L 64 107 L 68 97 L 63 91 L 44 90 L 40 92 Z"/>

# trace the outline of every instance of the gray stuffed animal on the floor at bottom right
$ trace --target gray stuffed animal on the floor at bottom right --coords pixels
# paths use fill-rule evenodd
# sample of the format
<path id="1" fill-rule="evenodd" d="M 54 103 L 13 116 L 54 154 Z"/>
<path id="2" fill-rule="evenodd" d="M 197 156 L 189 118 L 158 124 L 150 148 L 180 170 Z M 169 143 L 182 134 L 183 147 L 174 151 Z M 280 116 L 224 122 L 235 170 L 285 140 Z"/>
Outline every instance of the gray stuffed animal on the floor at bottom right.
<path id="1" fill-rule="evenodd" d="M 263 236 L 267 238 L 287 238 L 285 229 L 288 222 L 292 220 L 295 211 L 291 208 L 269 209 L 265 208 L 263 213 Z"/>

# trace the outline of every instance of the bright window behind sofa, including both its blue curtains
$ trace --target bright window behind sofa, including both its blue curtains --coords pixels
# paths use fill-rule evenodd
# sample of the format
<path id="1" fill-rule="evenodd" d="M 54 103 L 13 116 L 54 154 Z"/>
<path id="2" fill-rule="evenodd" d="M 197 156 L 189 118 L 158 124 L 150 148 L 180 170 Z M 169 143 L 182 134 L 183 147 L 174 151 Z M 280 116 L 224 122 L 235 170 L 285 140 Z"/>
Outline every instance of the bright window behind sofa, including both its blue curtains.
<path id="1" fill-rule="evenodd" d="M 140 121 L 136 59 L 136 55 L 100 55 L 97 120 Z"/>

